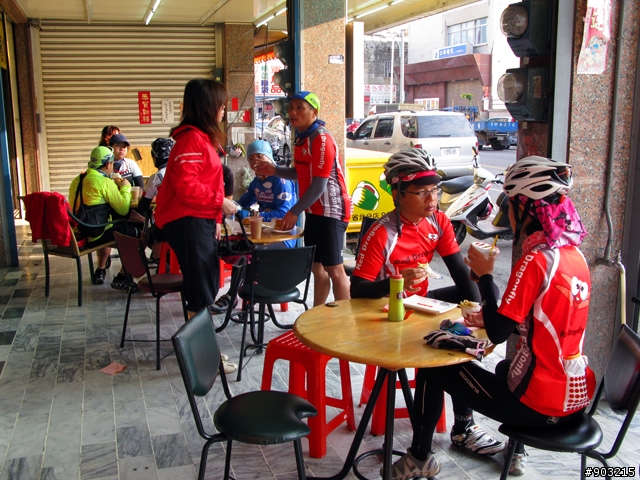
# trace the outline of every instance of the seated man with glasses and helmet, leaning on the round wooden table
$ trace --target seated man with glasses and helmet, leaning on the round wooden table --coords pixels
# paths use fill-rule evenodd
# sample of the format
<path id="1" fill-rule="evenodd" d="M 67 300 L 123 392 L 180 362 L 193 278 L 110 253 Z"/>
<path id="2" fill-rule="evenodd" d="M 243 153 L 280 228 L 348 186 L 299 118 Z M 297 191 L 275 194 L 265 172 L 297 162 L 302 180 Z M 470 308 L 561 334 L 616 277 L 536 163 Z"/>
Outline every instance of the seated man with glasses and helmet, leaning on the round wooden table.
<path id="1" fill-rule="evenodd" d="M 392 155 L 384 169 L 396 208 L 377 220 L 362 239 L 351 278 L 351 297 L 388 296 L 389 277 L 397 271 L 404 278 L 406 295 L 418 294 L 452 303 L 479 302 L 478 287 L 469 278 L 451 222 L 438 210 L 440 176 L 432 157 L 423 149 L 410 148 Z M 429 290 L 431 269 L 424 265 L 431 262 L 436 252 L 455 285 Z M 481 455 L 493 455 L 504 449 L 503 442 L 473 423 L 467 405 L 456 401 L 453 410 L 451 439 L 455 445 Z"/>

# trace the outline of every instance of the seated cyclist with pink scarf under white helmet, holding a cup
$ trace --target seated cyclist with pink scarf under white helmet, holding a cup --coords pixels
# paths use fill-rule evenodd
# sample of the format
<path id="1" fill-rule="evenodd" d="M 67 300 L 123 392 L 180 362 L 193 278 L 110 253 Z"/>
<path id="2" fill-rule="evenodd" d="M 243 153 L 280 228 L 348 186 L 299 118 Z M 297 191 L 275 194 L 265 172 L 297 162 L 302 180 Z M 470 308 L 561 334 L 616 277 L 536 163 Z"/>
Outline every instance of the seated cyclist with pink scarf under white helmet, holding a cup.
<path id="1" fill-rule="evenodd" d="M 578 249 L 586 231 L 565 196 L 572 185 L 571 167 L 547 158 L 526 157 L 507 169 L 504 191 L 514 245 L 522 247 L 522 257 L 498 307 L 496 255 L 469 250 L 466 262 L 479 277 L 484 305 L 466 316 L 465 324 L 484 327 L 494 344 L 517 332 L 516 354 L 500 362 L 495 373 L 476 362 L 418 371 L 413 440 L 393 466 L 394 480 L 440 470 L 431 448 L 443 391 L 489 418 L 520 427 L 553 429 L 583 414 L 595 390 L 594 374 L 582 355 L 591 280 Z M 524 474 L 525 455 L 523 446 L 516 445 L 511 475 Z"/>

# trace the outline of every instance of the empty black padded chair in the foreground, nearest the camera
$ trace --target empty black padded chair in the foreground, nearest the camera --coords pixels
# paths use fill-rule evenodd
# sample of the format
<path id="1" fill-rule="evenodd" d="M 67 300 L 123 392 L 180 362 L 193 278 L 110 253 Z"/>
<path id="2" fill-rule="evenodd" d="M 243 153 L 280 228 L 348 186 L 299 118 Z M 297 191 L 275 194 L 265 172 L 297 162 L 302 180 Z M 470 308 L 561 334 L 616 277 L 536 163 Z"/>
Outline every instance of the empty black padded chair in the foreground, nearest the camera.
<path id="1" fill-rule="evenodd" d="M 286 392 L 254 391 L 232 397 L 211 314 L 206 308 L 180 327 L 171 339 L 198 433 L 206 440 L 198 479 L 204 479 L 211 445 L 224 441 L 227 442 L 224 478 L 229 478 L 233 440 L 253 445 L 293 442 L 298 478 L 306 478 L 300 439 L 309 435 L 310 429 L 302 419 L 316 416 L 315 407 Z M 204 397 L 211 391 L 218 374 L 227 400 L 213 415 L 213 424 L 219 432 L 213 434 L 204 429 L 196 397 Z"/>

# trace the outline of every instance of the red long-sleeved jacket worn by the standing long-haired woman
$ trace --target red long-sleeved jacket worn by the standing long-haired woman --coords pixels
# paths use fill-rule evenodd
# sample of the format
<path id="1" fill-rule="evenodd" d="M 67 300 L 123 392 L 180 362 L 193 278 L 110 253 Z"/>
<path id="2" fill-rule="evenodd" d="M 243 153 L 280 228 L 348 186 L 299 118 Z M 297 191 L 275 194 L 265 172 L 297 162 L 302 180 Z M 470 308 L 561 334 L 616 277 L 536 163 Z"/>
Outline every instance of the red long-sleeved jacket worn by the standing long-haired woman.
<path id="1" fill-rule="evenodd" d="M 173 132 L 176 144 L 156 199 L 156 224 L 183 217 L 222 221 L 222 163 L 209 137 L 191 125 Z"/>

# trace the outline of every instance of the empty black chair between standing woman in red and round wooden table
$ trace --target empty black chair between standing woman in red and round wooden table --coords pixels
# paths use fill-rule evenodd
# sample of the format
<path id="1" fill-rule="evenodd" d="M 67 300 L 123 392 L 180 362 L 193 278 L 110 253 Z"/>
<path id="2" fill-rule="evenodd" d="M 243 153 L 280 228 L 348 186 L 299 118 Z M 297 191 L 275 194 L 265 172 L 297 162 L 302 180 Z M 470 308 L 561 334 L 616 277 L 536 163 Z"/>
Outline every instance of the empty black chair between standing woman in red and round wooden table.
<path id="1" fill-rule="evenodd" d="M 309 279 L 313 267 L 313 255 L 316 247 L 255 249 L 251 254 L 251 263 L 247 265 L 244 284 L 238 292 L 242 299 L 242 341 L 240 342 L 240 361 L 238 364 L 238 381 L 242 378 L 242 364 L 249 348 L 256 352 L 266 347 L 264 342 L 265 309 L 273 323 L 282 329 L 290 329 L 293 325 L 278 323 L 273 303 L 299 303 L 308 310 L 307 294 Z M 298 285 L 304 282 L 304 292 Z M 255 319 L 254 304 L 258 304 L 258 320 Z M 254 343 L 246 345 L 247 326 L 250 328 Z M 255 353 L 255 352 L 254 352 Z"/>

